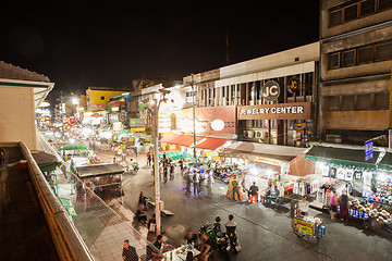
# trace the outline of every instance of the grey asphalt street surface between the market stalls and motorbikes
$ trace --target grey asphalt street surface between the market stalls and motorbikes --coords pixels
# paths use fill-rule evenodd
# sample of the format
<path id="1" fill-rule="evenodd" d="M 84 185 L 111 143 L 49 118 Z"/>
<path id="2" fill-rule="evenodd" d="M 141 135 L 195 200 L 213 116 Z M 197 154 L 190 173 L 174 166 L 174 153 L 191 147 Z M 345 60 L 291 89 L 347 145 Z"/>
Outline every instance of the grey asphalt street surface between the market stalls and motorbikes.
<path id="1" fill-rule="evenodd" d="M 140 171 L 136 175 L 124 175 L 124 204 L 136 211 L 138 195 L 154 198 L 155 187 L 150 169 L 146 166 L 145 156 L 138 157 Z M 332 222 L 328 213 L 310 210 L 310 214 L 322 219 L 327 236 L 320 243 L 298 238 L 291 228 L 287 217 L 289 204 L 266 208 L 261 203 L 237 203 L 220 192 L 226 185 L 216 181 L 212 198 L 186 196 L 182 190 L 182 179 L 176 173 L 173 182 L 161 183 L 161 199 L 164 209 L 174 216 L 162 217 L 162 226 L 169 241 L 181 244 L 189 228 L 197 233 L 199 227 L 213 222 L 217 215 L 222 223 L 229 214 L 237 223 L 237 235 L 242 245 L 238 254 L 213 254 L 213 260 L 391 260 L 391 239 L 371 231 L 364 229 L 358 223 L 344 224 Z M 149 210 L 149 216 L 154 210 Z"/>

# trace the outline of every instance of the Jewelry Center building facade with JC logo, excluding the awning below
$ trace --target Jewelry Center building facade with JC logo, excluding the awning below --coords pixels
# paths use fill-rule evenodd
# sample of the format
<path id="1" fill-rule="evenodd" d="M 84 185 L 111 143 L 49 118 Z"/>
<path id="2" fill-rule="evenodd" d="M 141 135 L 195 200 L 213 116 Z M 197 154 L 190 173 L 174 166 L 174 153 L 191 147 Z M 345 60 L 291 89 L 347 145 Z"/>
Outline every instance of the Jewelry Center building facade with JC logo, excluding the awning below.
<path id="1" fill-rule="evenodd" d="M 237 107 L 240 140 L 294 146 L 296 139 L 316 134 L 317 115 L 311 109 L 317 99 L 318 60 L 319 42 L 314 42 L 187 76 L 184 84 L 194 82 L 196 107 Z M 192 105 L 187 85 L 187 104 Z M 303 111 L 289 109 L 297 102 Z M 294 129 L 297 123 L 305 123 L 298 127 L 305 129 L 299 138 Z"/>

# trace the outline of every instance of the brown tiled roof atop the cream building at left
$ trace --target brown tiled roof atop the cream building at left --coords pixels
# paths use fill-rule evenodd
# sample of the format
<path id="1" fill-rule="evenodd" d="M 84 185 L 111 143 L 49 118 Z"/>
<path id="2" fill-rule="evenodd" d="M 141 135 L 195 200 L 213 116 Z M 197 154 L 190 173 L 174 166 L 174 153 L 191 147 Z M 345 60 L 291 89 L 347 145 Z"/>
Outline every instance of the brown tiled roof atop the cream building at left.
<path id="1" fill-rule="evenodd" d="M 49 78 L 42 74 L 37 74 L 19 66 L 0 61 L 0 78 L 35 80 L 49 83 Z"/>

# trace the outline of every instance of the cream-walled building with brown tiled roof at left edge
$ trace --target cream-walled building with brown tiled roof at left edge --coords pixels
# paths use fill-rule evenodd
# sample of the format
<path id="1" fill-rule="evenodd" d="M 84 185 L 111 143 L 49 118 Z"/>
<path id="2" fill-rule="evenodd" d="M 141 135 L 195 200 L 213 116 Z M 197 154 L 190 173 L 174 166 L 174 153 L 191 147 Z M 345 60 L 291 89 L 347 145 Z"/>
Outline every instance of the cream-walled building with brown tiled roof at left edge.
<path id="1" fill-rule="evenodd" d="M 0 142 L 23 141 L 38 149 L 35 110 L 54 84 L 45 75 L 0 62 Z"/>

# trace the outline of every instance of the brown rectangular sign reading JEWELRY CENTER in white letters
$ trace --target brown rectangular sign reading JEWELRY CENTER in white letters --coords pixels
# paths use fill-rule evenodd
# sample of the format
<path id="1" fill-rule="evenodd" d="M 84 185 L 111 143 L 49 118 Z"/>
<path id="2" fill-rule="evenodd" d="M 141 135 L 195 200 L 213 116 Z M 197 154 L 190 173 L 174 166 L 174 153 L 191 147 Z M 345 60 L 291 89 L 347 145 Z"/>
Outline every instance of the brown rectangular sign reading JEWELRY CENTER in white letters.
<path id="1" fill-rule="evenodd" d="M 238 107 L 238 120 L 310 120 L 310 102 Z"/>

